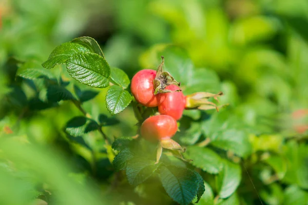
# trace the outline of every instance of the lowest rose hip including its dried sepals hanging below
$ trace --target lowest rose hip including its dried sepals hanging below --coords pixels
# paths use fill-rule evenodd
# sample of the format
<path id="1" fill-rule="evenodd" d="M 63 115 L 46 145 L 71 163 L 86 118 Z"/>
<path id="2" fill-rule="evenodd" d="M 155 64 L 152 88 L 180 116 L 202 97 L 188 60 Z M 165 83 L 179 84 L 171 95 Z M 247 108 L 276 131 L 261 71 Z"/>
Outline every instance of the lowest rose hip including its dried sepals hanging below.
<path id="1" fill-rule="evenodd" d="M 181 152 L 185 152 L 185 149 L 182 148 L 178 142 L 171 139 L 177 131 L 177 120 L 169 115 L 151 116 L 144 120 L 140 128 L 141 136 L 144 139 L 151 142 L 159 142 L 157 149 L 157 162 L 161 157 L 163 148 L 178 151 L 178 155 L 181 155 Z M 181 158 L 183 158 L 182 155 Z"/>

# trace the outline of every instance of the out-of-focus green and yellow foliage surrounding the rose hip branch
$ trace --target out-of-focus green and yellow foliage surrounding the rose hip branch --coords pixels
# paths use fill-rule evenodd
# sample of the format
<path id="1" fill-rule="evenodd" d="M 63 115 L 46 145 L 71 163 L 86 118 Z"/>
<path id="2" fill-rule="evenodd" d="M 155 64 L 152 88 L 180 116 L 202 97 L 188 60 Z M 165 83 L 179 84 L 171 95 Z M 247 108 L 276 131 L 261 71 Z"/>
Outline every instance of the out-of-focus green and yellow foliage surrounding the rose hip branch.
<path id="1" fill-rule="evenodd" d="M 251 129 L 247 158 L 257 190 L 242 187 L 241 203 L 260 204 L 257 191 L 264 204 L 308 204 L 308 1 L 1 0 L 0 19 L 0 138 L 13 138 L 0 141 L 0 204 L 46 204 L 33 196 L 48 201 L 51 190 L 61 203 L 50 204 L 172 204 L 164 194 L 155 197 L 154 188 L 115 185 L 98 133 L 67 139 L 63 127 L 80 115 L 71 103 L 39 112 L 26 106 L 35 91 L 15 77 L 18 65 L 40 65 L 56 46 L 79 36 L 96 39 L 108 63 L 129 77 L 155 69 L 159 59 L 153 61 L 152 52 L 164 44 L 185 48 L 196 68 L 219 79 L 229 117 Z M 84 103 L 95 118 L 111 117 L 104 93 Z M 136 134 L 131 107 L 112 119 L 120 123 L 106 127 L 107 135 Z M 282 177 L 271 178 L 254 161 L 258 151 L 283 156 Z M 295 193 L 300 203 L 292 203 Z"/>

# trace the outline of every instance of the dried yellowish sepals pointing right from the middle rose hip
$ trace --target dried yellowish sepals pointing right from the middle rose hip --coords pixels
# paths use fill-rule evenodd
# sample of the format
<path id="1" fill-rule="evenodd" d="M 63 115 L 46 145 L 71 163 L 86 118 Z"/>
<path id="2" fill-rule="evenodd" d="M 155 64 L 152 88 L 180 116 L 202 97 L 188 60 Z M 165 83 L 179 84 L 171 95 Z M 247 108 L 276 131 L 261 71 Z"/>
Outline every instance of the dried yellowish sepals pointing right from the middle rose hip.
<path id="1" fill-rule="evenodd" d="M 218 112 L 220 108 L 228 106 L 228 104 L 217 106 L 215 103 L 209 101 L 209 98 L 214 98 L 217 102 L 218 97 L 223 95 L 222 92 L 217 94 L 208 92 L 197 92 L 186 96 L 185 109 L 199 109 L 199 110 L 211 110 L 216 109 Z"/>

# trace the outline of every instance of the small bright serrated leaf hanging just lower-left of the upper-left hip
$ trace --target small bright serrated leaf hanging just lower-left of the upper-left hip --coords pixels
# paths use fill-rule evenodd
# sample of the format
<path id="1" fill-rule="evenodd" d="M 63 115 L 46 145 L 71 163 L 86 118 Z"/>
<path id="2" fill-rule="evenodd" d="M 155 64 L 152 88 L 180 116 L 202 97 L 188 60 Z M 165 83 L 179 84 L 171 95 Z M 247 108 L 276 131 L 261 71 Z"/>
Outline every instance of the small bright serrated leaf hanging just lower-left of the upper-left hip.
<path id="1" fill-rule="evenodd" d="M 129 92 L 120 86 L 111 86 L 106 94 L 107 109 L 112 115 L 122 112 L 131 100 Z"/>

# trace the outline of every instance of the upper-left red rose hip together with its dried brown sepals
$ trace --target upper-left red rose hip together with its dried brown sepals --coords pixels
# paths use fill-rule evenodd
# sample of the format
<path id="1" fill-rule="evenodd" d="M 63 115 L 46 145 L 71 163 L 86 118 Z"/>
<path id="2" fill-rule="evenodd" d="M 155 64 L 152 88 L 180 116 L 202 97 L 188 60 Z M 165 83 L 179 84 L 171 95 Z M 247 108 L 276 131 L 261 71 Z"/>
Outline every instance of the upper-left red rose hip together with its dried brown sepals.
<path id="1" fill-rule="evenodd" d="M 146 107 L 157 107 L 164 99 L 164 93 L 178 92 L 166 89 L 169 85 L 180 85 L 168 72 L 163 71 L 164 57 L 157 71 L 144 69 L 131 79 L 131 94 L 139 104 Z"/>

